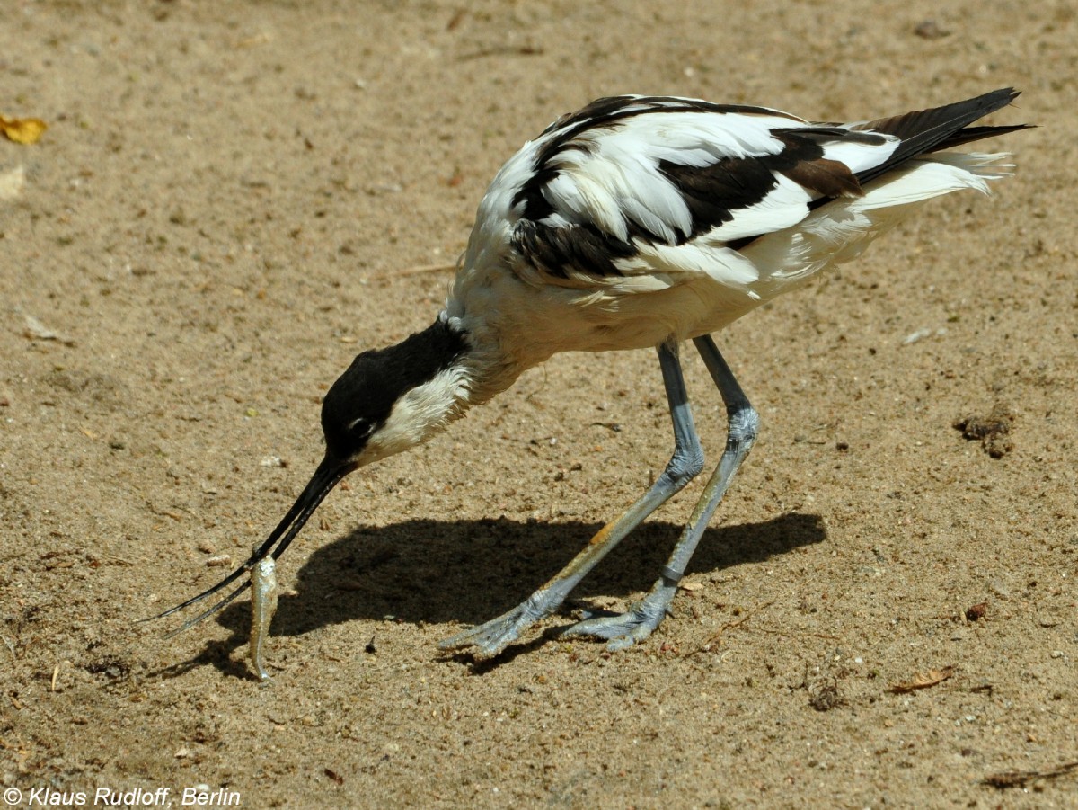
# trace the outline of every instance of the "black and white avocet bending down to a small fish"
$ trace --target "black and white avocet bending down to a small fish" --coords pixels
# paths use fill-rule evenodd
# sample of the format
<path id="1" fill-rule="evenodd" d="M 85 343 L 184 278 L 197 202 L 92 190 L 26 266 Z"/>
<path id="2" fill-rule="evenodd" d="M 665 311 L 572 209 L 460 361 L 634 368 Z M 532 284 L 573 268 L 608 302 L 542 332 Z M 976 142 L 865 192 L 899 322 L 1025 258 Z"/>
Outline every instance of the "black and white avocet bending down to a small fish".
<path id="1" fill-rule="evenodd" d="M 678 360 L 691 340 L 725 403 L 725 449 L 651 591 L 623 615 L 566 631 L 613 648 L 646 639 L 757 436 L 757 413 L 711 333 L 853 259 L 927 200 L 987 192 L 1010 174 L 1009 155 L 950 150 L 1025 128 L 972 125 L 1017 95 L 998 90 L 853 124 L 665 96 L 600 98 L 558 119 L 494 178 L 434 322 L 396 346 L 363 352 L 330 388 L 326 456 L 284 520 L 243 566 L 161 616 L 219 592 L 267 555 L 279 558 L 349 472 L 426 441 L 555 353 L 654 347 L 674 426 L 669 463 L 550 581 L 442 645 L 497 655 L 703 469 Z"/>

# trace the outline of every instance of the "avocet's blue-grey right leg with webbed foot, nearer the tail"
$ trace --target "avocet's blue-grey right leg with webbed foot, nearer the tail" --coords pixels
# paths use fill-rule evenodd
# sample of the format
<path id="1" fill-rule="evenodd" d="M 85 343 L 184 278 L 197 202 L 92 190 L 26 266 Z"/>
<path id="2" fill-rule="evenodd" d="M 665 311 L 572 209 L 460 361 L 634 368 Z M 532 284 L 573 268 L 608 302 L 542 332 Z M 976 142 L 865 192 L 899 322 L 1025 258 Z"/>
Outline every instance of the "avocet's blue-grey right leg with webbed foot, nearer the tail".
<path id="1" fill-rule="evenodd" d="M 696 338 L 693 342 L 696 344 L 701 357 L 704 358 L 704 363 L 711 373 L 711 379 L 718 386 L 722 401 L 727 406 L 729 421 L 727 449 L 692 510 L 692 517 L 674 547 L 674 552 L 666 565 L 663 566 L 659 579 L 651 587 L 648 595 L 633 605 L 625 614 L 584 619 L 569 628 L 566 631 L 567 635 L 596 635 L 609 639 L 610 643 L 607 646 L 610 649 L 630 647 L 651 635 L 651 632 L 659 627 L 669 610 L 674 594 L 677 593 L 678 581 L 685 575 L 689 559 L 696 550 L 696 544 L 700 543 L 716 507 L 722 500 L 730 479 L 733 478 L 741 463 L 745 461 L 752 442 L 756 441 L 760 417 L 749 404 L 741 386 L 737 385 L 730 367 L 719 354 L 715 341 L 711 340 L 710 335 L 704 335 Z"/>

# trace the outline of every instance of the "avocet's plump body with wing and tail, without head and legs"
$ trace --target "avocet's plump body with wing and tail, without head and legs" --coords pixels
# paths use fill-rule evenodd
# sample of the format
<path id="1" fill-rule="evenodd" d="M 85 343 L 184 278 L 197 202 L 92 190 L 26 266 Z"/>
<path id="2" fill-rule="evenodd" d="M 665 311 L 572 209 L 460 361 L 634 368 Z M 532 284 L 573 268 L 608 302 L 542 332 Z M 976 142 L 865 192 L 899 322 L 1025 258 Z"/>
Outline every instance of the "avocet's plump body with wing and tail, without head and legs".
<path id="1" fill-rule="evenodd" d="M 551 124 L 484 196 L 450 301 L 507 362 L 716 331 L 859 253 L 917 203 L 987 190 L 1003 154 L 939 152 L 1017 95 L 857 124 L 619 96 Z"/>

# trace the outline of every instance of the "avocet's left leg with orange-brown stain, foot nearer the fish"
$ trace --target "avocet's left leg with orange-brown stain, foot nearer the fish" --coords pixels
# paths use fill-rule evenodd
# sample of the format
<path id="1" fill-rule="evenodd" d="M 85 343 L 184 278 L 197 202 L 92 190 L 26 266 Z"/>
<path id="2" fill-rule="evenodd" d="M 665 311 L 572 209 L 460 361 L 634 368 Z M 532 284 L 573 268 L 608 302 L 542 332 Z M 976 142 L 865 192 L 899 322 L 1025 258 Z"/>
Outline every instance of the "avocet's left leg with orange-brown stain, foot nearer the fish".
<path id="1" fill-rule="evenodd" d="M 569 592 L 619 541 L 636 528 L 649 514 L 685 486 L 704 467 L 704 453 L 692 424 L 689 397 L 685 389 L 678 345 L 674 341 L 660 344 L 659 365 L 663 372 L 671 418 L 674 423 L 674 455 L 648 492 L 617 520 L 600 528 L 572 562 L 558 572 L 542 588 L 509 613 L 485 624 L 466 630 L 441 643 L 443 649 L 474 647 L 475 658 L 498 655 L 529 624 L 550 615 Z"/>

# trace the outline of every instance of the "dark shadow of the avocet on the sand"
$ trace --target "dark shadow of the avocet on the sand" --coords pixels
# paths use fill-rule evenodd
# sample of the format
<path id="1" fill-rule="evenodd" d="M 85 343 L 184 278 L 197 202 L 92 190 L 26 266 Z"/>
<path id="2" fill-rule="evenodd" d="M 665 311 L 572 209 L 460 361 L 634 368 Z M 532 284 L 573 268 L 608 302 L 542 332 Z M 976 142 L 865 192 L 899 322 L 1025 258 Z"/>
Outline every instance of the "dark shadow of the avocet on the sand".
<path id="1" fill-rule="evenodd" d="M 279 598 L 271 636 L 296 636 L 327 624 L 387 617 L 404 622 L 479 624 L 523 601 L 599 528 L 597 523 L 507 518 L 421 519 L 360 527 L 318 549 L 303 564 L 294 593 Z M 570 603 L 648 589 L 680 531 L 681 526 L 665 522 L 639 526 L 581 582 Z M 799 512 L 760 523 L 709 527 L 688 574 L 763 562 L 826 538 L 818 516 Z M 243 664 L 233 660 L 232 653 L 248 641 L 247 602 L 230 605 L 217 621 L 232 636 L 207 643 L 186 662 L 169 668 L 170 674 L 206 663 L 238 674 Z"/>

